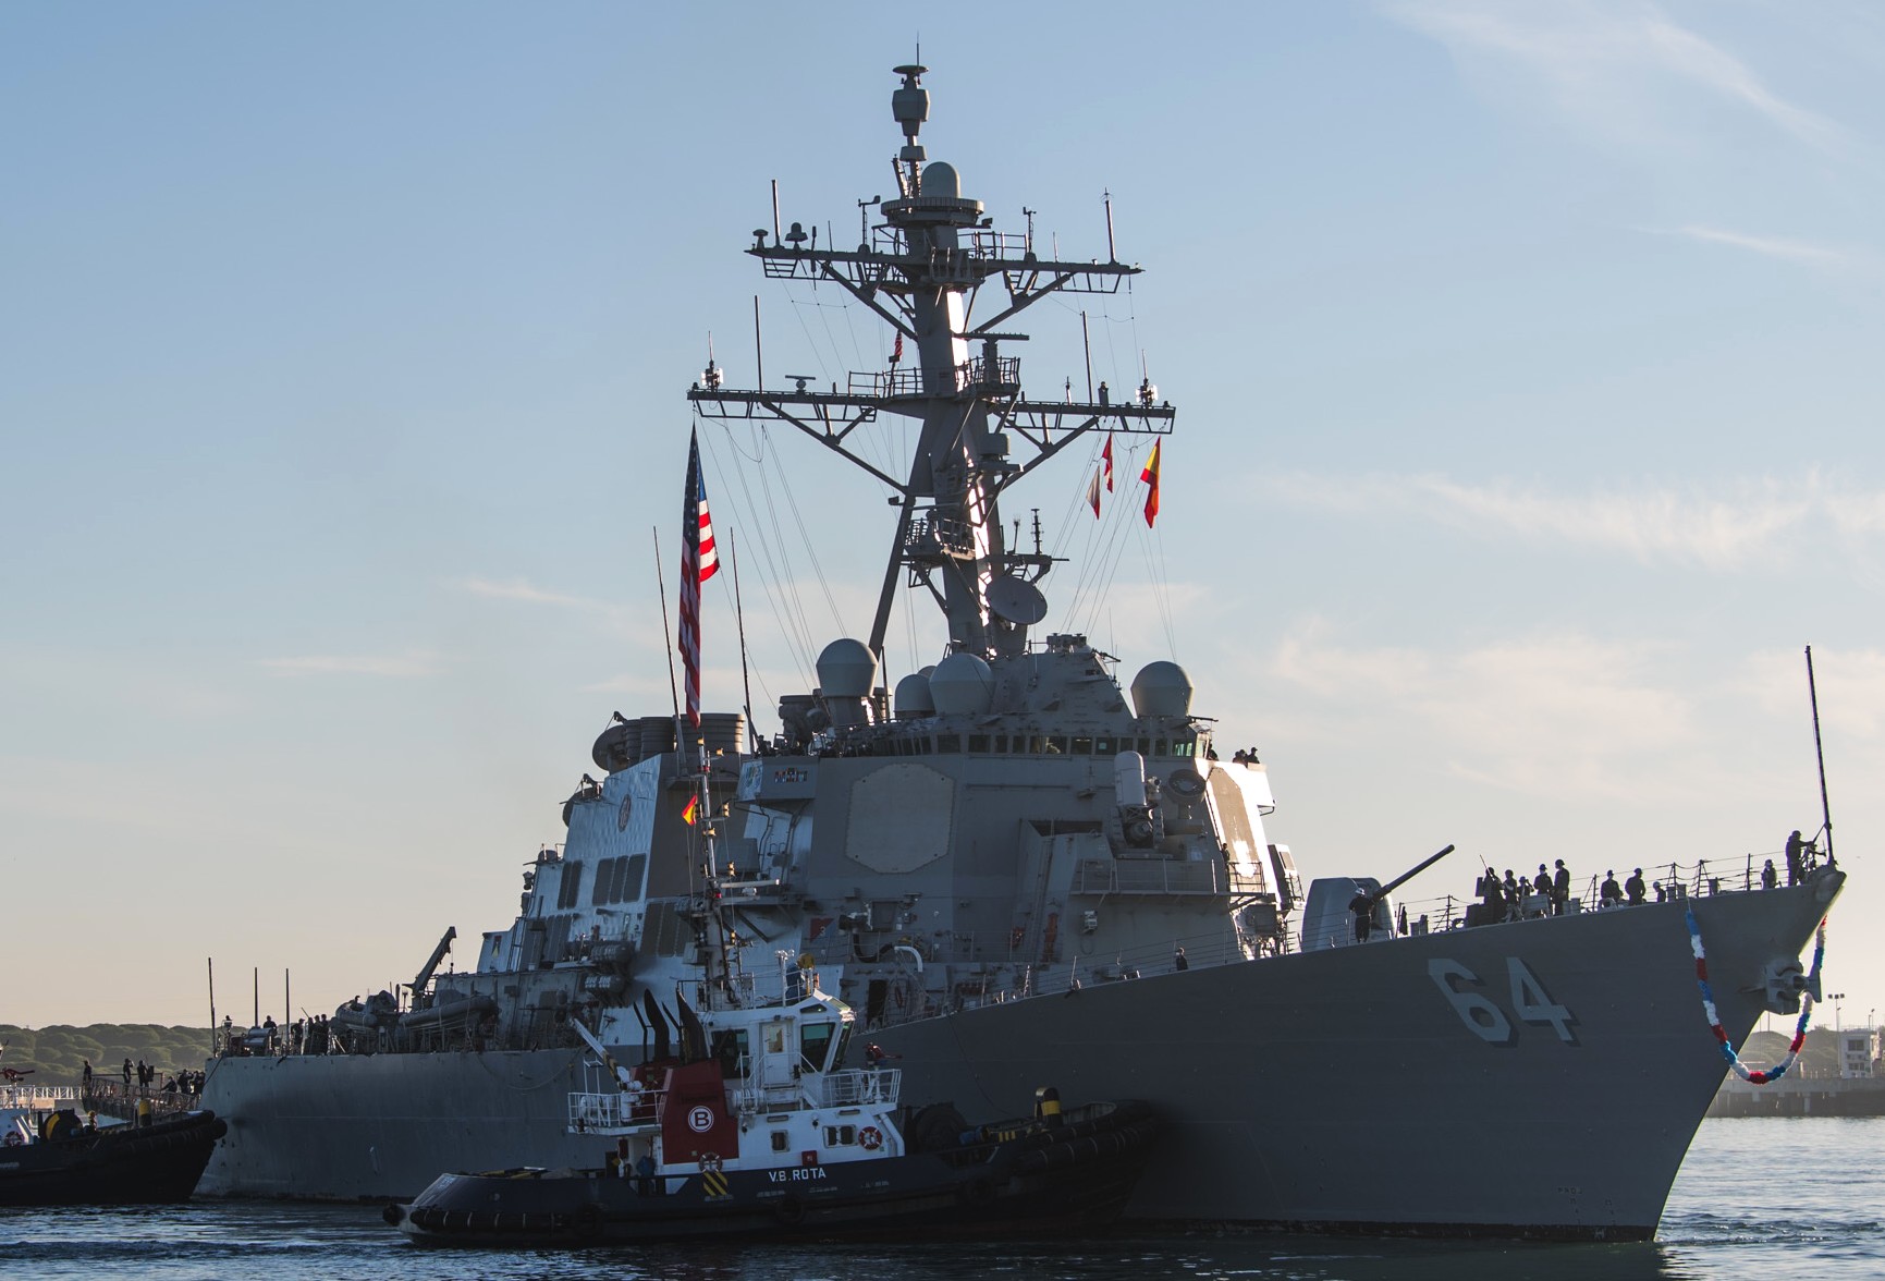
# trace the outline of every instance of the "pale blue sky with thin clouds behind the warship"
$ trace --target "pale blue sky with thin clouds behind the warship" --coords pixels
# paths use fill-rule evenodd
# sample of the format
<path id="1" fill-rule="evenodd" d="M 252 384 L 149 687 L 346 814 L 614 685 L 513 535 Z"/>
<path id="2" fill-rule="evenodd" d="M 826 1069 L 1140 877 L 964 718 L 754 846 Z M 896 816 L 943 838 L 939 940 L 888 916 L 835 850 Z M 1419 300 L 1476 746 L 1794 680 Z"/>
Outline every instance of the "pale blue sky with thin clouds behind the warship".
<path id="1" fill-rule="evenodd" d="M 888 355 L 741 249 L 775 177 L 856 234 L 918 40 L 997 226 L 1101 255 L 1110 192 L 1148 268 L 1027 317 L 1033 394 L 1084 308 L 1095 377 L 1180 409 L 1154 534 L 1080 458 L 1010 500 L 1105 566 L 1056 626 L 1184 662 L 1306 873 L 1457 843 L 1416 898 L 1811 830 L 1811 643 L 1830 987 L 1885 1000 L 1885 13 L 939 13 L 0 8 L 0 964 L 53 966 L 0 1021 L 200 1021 L 205 957 L 224 1007 L 258 968 L 332 1009 L 509 923 L 609 713 L 667 709 L 707 336 L 735 387 L 756 294 L 767 381 Z M 782 434 L 703 451 L 771 704 L 867 632 L 888 507 Z"/>

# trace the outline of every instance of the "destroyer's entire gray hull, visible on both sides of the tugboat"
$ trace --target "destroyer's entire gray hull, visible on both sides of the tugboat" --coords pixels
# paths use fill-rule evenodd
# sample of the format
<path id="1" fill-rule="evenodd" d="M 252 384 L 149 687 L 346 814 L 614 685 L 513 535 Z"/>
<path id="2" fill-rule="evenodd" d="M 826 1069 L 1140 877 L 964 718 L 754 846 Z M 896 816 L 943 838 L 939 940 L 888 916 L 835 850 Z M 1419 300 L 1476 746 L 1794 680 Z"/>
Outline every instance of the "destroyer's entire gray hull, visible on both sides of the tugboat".
<path id="1" fill-rule="evenodd" d="M 1838 890 L 1695 904 L 1723 1024 L 1762 1013 Z M 1436 977 L 1438 975 L 1438 977 Z M 1450 994 L 1451 992 L 1451 994 Z M 1491 1011 L 1483 1006 L 1489 1004 Z M 1476 1023 L 1474 1023 L 1476 1021 Z M 873 1034 L 971 1119 L 1146 1098 L 1129 1213 L 1293 1228 L 1647 1238 L 1723 1077 L 1680 904 L 1090 985 Z M 207 1194 L 411 1196 L 449 1170 L 594 1164 L 567 1051 L 222 1060 Z"/>

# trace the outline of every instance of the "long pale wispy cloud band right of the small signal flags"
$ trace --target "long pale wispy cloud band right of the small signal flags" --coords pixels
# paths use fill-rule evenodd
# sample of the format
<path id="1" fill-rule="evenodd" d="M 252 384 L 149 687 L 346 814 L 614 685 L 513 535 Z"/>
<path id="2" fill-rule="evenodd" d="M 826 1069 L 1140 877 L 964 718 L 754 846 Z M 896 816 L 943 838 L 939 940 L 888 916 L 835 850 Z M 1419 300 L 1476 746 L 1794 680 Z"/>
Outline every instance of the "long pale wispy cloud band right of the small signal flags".
<path id="1" fill-rule="evenodd" d="M 1412 513 L 1455 528 L 1621 551 L 1644 562 L 1712 570 L 1779 564 L 1815 524 L 1847 540 L 1885 532 L 1885 494 L 1840 491 L 1808 474 L 1704 487 L 1555 494 L 1516 481 L 1467 485 L 1446 475 L 1276 475 L 1278 502 L 1352 515 Z"/>

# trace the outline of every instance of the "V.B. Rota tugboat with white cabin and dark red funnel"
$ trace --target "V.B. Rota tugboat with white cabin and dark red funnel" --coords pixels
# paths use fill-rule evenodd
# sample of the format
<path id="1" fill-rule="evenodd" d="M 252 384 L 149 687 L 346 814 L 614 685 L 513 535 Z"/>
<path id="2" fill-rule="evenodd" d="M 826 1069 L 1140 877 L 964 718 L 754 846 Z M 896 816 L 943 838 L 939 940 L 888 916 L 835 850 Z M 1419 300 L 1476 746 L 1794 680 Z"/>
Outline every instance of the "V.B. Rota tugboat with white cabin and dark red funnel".
<path id="1" fill-rule="evenodd" d="M 1041 1087 L 1031 1117 L 997 1124 L 905 1107 L 877 1043 L 865 1068 L 843 1066 L 856 1015 L 818 989 L 809 955 L 779 953 L 779 994 L 762 998 L 737 936 L 701 915 L 720 926 L 709 973 L 677 985 L 673 1013 L 645 996 L 641 1064 L 571 1024 L 607 1073 L 569 1094 L 569 1134 L 613 1143 L 601 1166 L 439 1175 L 386 1223 L 424 1245 L 907 1239 L 1063 1232 L 1125 1206 L 1156 1138 L 1150 1106 L 1063 1111 Z"/>

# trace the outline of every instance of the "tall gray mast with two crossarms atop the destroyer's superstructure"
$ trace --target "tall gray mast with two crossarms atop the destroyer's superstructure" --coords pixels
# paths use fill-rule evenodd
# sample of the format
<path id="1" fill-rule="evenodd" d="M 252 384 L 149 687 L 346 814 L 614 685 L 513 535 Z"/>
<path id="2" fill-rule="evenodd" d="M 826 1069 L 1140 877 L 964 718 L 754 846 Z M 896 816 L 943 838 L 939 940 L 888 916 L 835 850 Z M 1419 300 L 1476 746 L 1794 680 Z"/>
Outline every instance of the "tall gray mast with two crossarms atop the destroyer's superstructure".
<path id="1" fill-rule="evenodd" d="M 843 285 L 897 330 L 899 345 L 914 345 L 914 362 L 854 372 L 844 391 L 833 383 L 829 392 L 809 389 L 803 377 L 790 391 L 728 391 L 711 370 L 688 400 L 701 417 L 790 423 L 895 491 L 897 532 L 869 640 L 878 662 L 899 577 L 929 589 L 948 619 L 952 653 L 1010 658 L 1025 653 L 1027 628 L 1046 617 L 1035 583 L 1052 568 L 1052 557 L 1007 545 L 1001 492 L 1093 428 L 1167 434 L 1174 411 L 1152 404 L 1150 391 L 1127 404 L 1110 404 L 1105 389 L 1097 404 L 1025 398 L 1020 358 L 1001 355 L 1001 343 L 1027 336 L 1001 326 L 1052 292 L 1118 292 L 1140 268 L 1044 260 L 1033 253 L 1031 236 L 993 230 L 982 202 L 961 194 L 954 166 L 926 164 L 916 141 L 929 119 L 926 70 L 895 68 L 903 77 L 892 94 L 892 115 L 903 130 L 893 164 L 899 194 L 882 202 L 884 223 L 875 234 L 856 251 L 820 249 L 816 236 L 792 223 L 771 241 L 765 228 L 756 230 L 746 249 L 767 277 Z M 860 209 L 869 204 L 860 202 Z M 975 298 L 993 277 L 1007 289 L 1007 306 L 971 326 Z M 922 421 L 903 479 L 848 443 L 852 430 L 878 413 Z M 1010 457 L 1014 438 L 1031 447 L 1029 458 Z"/>

